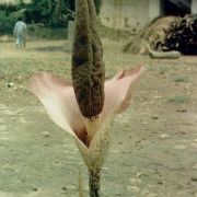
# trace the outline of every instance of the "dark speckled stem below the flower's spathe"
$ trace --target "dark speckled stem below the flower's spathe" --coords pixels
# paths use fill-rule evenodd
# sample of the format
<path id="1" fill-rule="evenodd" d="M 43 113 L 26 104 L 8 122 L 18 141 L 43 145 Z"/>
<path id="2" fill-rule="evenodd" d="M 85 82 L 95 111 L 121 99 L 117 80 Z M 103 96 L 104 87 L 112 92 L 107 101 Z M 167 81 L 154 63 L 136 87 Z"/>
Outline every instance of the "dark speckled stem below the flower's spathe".
<path id="1" fill-rule="evenodd" d="M 100 197 L 100 171 L 93 172 L 89 170 L 90 197 Z"/>

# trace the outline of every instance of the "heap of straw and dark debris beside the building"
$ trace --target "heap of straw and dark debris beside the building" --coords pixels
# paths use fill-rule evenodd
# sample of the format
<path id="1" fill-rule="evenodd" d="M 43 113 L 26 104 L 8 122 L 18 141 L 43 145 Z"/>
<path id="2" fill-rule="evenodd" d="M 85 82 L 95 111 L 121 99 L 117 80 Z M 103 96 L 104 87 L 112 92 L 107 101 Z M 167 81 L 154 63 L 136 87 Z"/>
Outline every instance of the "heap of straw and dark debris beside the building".
<path id="1" fill-rule="evenodd" d="M 131 54 L 148 54 L 150 50 L 197 55 L 197 15 L 155 19 L 123 48 Z"/>

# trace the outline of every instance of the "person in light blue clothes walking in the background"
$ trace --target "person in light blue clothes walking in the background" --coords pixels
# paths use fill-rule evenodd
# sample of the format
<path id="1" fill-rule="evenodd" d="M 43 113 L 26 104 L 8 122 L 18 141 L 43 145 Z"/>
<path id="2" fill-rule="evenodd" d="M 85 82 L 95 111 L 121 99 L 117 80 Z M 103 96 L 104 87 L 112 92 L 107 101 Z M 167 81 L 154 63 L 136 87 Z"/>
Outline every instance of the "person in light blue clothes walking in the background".
<path id="1" fill-rule="evenodd" d="M 22 18 L 18 19 L 13 34 L 16 37 L 16 48 L 24 48 L 26 42 L 26 24 L 22 21 Z"/>

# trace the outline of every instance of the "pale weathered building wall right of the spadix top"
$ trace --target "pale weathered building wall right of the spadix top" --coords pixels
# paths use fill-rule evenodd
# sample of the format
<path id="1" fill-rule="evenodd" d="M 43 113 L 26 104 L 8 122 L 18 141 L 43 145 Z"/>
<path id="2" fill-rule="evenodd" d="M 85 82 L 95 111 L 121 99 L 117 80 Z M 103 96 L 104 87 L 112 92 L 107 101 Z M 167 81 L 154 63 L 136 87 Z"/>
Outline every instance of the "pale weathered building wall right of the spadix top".
<path id="1" fill-rule="evenodd" d="M 138 28 L 160 14 L 160 0 L 103 0 L 102 24 L 114 28 Z"/>

